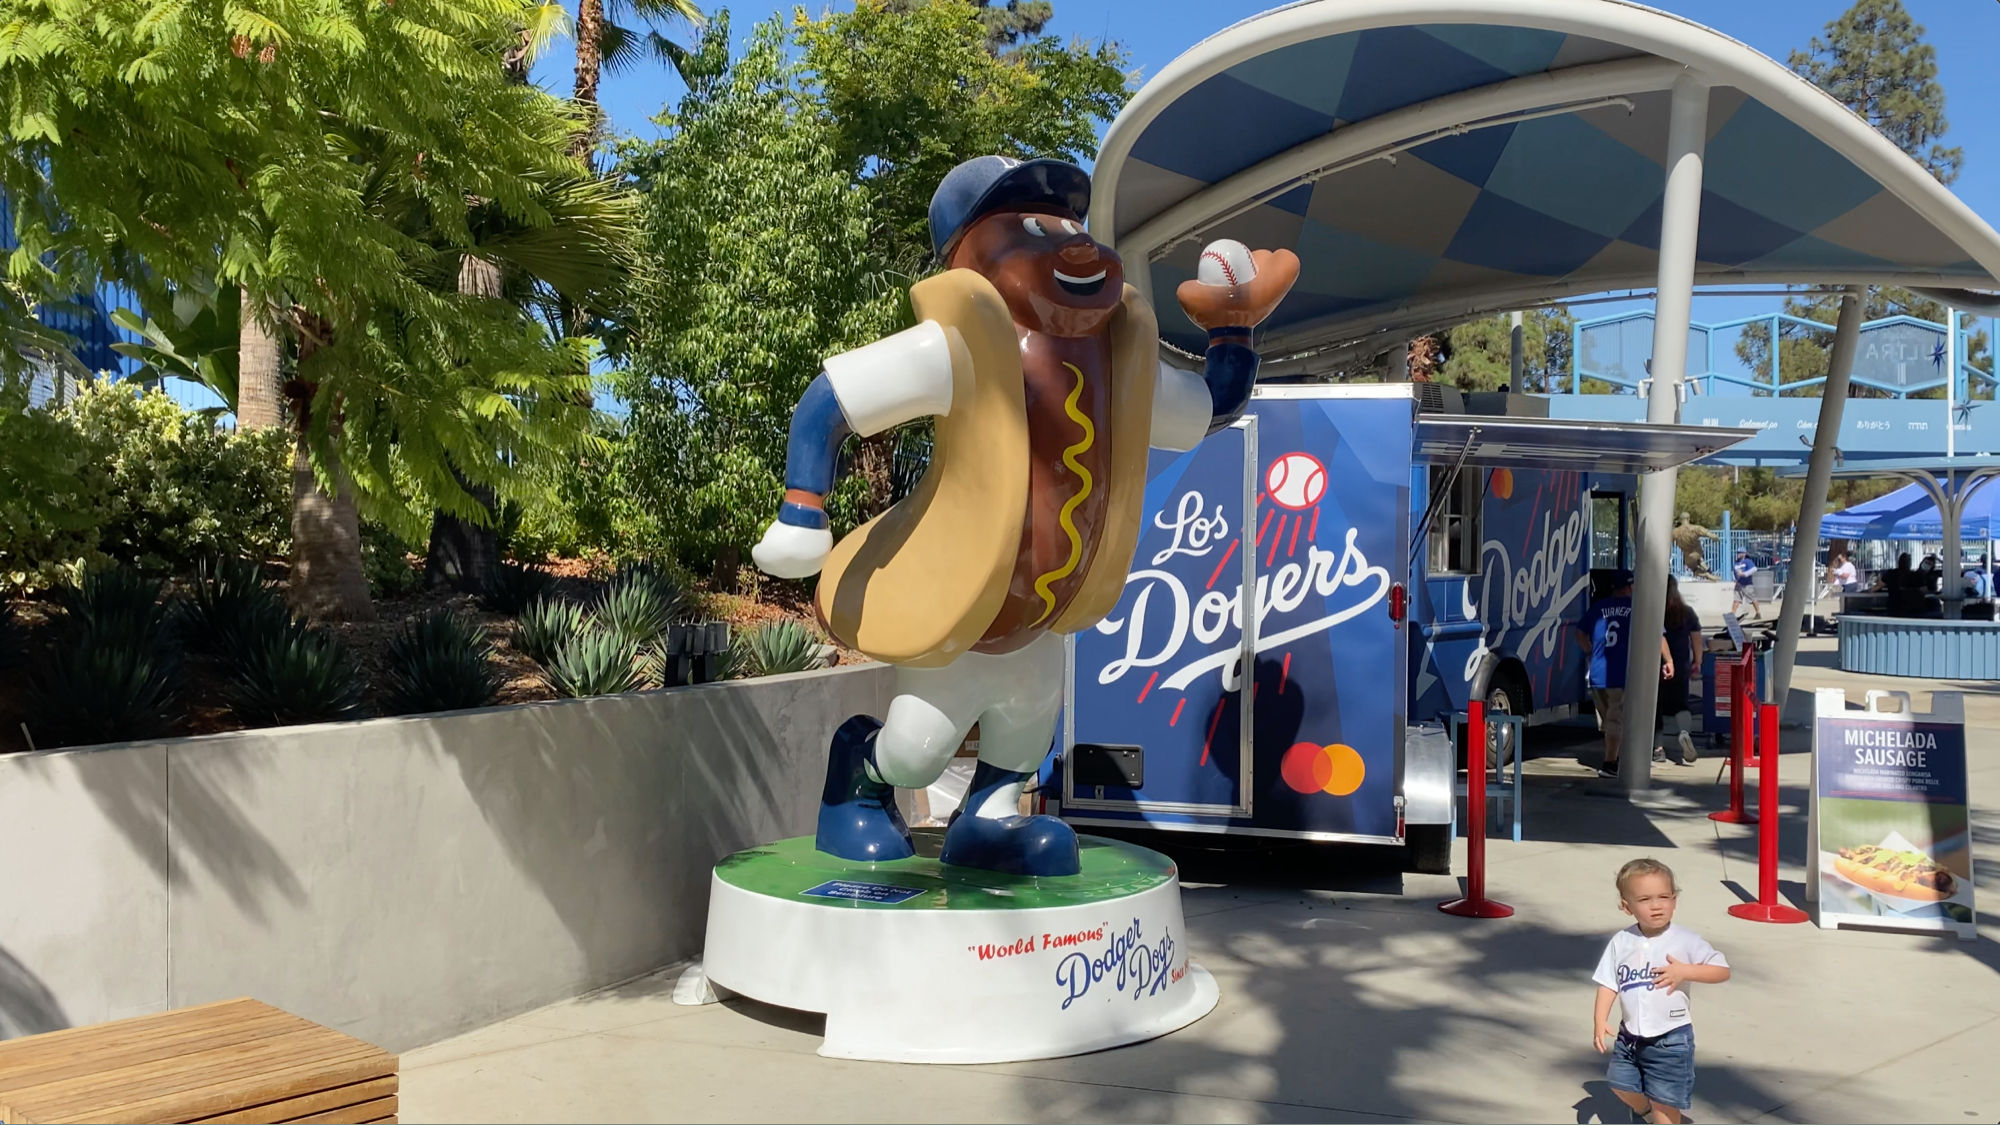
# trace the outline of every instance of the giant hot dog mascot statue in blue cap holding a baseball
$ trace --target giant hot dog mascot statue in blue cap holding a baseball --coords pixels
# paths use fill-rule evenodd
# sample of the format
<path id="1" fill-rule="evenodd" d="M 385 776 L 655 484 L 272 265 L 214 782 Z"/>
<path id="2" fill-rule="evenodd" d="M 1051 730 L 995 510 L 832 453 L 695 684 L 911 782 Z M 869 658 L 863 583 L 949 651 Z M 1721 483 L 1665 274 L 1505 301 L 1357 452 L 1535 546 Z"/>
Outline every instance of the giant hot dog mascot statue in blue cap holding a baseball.
<path id="1" fill-rule="evenodd" d="M 1022 817 L 1062 707 L 1062 639 L 1118 605 L 1140 534 L 1148 448 L 1194 448 L 1242 414 L 1250 330 L 1298 278 L 1254 254 L 1244 284 L 1190 280 L 1206 370 L 1158 362 L 1152 308 L 1084 232 L 1090 176 L 1062 160 L 968 160 L 930 200 L 944 272 L 910 290 L 918 326 L 826 360 L 792 414 L 784 502 L 752 550 L 780 579 L 820 575 L 842 645 L 896 667 L 882 721 L 834 735 L 816 845 L 912 855 L 894 787 L 934 783 L 966 731 L 980 761 L 944 863 L 1076 875 L 1076 833 Z M 838 544 L 822 496 L 840 442 L 936 418 L 916 490 Z"/>

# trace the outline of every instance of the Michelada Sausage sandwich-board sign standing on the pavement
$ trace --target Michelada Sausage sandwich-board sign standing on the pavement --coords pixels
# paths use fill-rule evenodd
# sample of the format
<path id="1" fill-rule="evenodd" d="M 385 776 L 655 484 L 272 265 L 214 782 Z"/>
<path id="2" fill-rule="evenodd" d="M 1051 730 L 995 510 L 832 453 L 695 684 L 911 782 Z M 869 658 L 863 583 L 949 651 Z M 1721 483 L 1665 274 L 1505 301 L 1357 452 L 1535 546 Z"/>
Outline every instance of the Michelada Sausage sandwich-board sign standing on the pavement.
<path id="1" fill-rule="evenodd" d="M 1974 937 L 1966 727 L 1960 699 L 1930 715 L 1848 711 L 1818 693 L 1812 823 L 1820 925 Z"/>

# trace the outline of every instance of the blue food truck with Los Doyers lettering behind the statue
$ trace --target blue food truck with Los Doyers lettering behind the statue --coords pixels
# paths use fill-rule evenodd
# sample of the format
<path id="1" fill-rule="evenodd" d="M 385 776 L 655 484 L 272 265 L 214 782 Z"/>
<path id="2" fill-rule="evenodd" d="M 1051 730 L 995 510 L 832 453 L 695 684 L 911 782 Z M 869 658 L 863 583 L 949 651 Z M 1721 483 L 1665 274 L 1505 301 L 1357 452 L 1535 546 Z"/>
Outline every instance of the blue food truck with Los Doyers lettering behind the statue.
<path id="1" fill-rule="evenodd" d="M 1124 597 L 1070 641 L 1050 809 L 1396 845 L 1444 871 L 1452 717 L 1576 715 L 1570 627 L 1592 575 L 1632 562 L 1636 474 L 1744 436 L 1546 412 L 1438 384 L 1260 386 L 1236 424 L 1154 452 Z"/>

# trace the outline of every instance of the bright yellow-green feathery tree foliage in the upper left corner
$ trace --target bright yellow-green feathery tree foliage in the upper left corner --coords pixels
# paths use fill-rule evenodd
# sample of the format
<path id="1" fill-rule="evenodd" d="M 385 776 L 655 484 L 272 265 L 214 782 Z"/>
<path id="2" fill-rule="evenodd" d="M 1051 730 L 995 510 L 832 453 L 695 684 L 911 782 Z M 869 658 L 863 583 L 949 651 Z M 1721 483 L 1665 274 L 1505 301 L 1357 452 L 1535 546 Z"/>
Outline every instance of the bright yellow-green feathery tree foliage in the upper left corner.
<path id="1" fill-rule="evenodd" d="M 484 216 L 554 230 L 550 192 L 586 178 L 568 154 L 578 118 L 500 64 L 532 8 L 0 0 L 14 292 L 244 290 L 248 322 L 296 364 L 292 595 L 308 613 L 372 613 L 356 506 L 408 538 L 432 504 L 482 518 L 466 482 L 504 488 L 508 458 L 586 432 L 590 342 L 456 286 Z M 20 310 L 0 300 L 0 334 Z"/>

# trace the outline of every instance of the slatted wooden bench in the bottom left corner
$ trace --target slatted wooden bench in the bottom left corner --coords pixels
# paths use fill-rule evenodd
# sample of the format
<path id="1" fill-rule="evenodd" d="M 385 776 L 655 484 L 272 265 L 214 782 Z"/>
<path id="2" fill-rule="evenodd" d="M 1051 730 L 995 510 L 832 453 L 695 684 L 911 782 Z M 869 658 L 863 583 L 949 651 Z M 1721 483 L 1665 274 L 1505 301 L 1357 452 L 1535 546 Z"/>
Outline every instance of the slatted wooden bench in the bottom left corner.
<path id="1" fill-rule="evenodd" d="M 0 1043 L 0 1121 L 372 1121 L 396 1057 L 254 999 Z"/>

